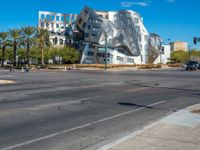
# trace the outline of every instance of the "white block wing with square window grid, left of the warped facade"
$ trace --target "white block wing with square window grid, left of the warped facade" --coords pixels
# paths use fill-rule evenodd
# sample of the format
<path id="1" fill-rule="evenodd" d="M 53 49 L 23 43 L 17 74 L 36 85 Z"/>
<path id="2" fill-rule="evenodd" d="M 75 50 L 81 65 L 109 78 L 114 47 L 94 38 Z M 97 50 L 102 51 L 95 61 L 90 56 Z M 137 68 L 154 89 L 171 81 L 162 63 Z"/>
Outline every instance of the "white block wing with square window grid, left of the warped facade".
<path id="1" fill-rule="evenodd" d="M 76 14 L 39 11 L 38 28 L 47 29 L 49 31 L 50 41 L 53 46 L 62 46 L 69 42 L 66 39 L 66 31 L 69 28 L 70 30 L 75 29 L 76 18 Z M 70 31 L 68 34 L 68 36 L 70 36 Z"/>

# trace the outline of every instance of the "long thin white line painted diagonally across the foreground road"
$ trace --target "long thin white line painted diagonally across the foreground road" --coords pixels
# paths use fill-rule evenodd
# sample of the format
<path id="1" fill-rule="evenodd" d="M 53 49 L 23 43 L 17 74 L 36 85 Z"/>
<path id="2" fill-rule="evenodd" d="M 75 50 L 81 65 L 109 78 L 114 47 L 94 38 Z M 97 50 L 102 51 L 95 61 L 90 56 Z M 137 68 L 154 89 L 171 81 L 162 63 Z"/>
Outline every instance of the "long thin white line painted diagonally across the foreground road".
<path id="1" fill-rule="evenodd" d="M 155 105 L 158 105 L 158 104 L 161 104 L 161 103 L 165 103 L 165 102 L 166 101 L 160 101 L 160 102 L 157 102 L 157 103 L 150 104 L 148 106 L 155 106 Z M 35 138 L 35 139 L 29 140 L 29 141 L 26 141 L 26 142 L 23 142 L 23 143 L 20 143 L 20 144 L 15 144 L 15 145 L 12 145 L 12 146 L 8 146 L 8 147 L 5 147 L 5 148 L 3 148 L 1 150 L 11 150 L 11 149 L 14 149 L 14 148 L 17 148 L 17 147 L 21 147 L 21 146 L 25 146 L 25 145 L 32 144 L 32 143 L 35 143 L 35 142 L 39 142 L 39 141 L 42 141 L 42 140 L 46 140 L 46 139 L 49 139 L 49 138 L 52 138 L 52 137 L 55 137 L 55 136 L 58 136 L 58 135 L 61 135 L 61 134 L 64 134 L 64 133 L 75 131 L 75 130 L 78 130 L 78 129 L 81 129 L 81 128 L 86 128 L 86 127 L 89 127 L 89 126 L 92 126 L 92 125 L 95 125 L 95 124 L 98 124 L 98 123 L 102 123 L 102 122 L 105 122 L 105 121 L 108 121 L 108 120 L 111 120 L 111 119 L 115 119 L 117 117 L 121 117 L 121 116 L 130 114 L 130 113 L 133 113 L 133 112 L 136 112 L 136 111 L 140 111 L 140 110 L 142 110 L 144 108 L 145 107 L 134 109 L 134 110 L 130 110 L 130 111 L 127 111 L 127 112 L 124 112 L 124 113 L 120 113 L 120 114 L 111 116 L 111 117 L 100 119 L 98 121 L 87 123 L 85 125 L 77 126 L 77 127 L 71 128 L 71 129 L 66 129 L 66 130 L 63 130 L 63 131 L 56 132 L 56 133 L 52 133 L 52 134 L 49 134 L 49 135 L 46 135 L 46 136 L 43 136 L 43 137 L 39 137 L 39 138 Z M 99 150 L 106 150 L 106 149 L 99 149 Z"/>

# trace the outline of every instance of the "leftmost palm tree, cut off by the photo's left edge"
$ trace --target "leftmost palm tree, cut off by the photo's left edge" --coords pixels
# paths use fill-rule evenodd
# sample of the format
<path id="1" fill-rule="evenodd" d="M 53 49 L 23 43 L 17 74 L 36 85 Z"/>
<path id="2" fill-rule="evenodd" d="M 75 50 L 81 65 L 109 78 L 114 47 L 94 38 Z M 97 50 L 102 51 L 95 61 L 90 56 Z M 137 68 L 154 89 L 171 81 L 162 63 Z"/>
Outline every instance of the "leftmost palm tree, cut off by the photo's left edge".
<path id="1" fill-rule="evenodd" d="M 2 45 L 2 63 L 1 66 L 4 67 L 5 50 L 8 45 L 8 32 L 0 32 L 0 44 Z"/>

